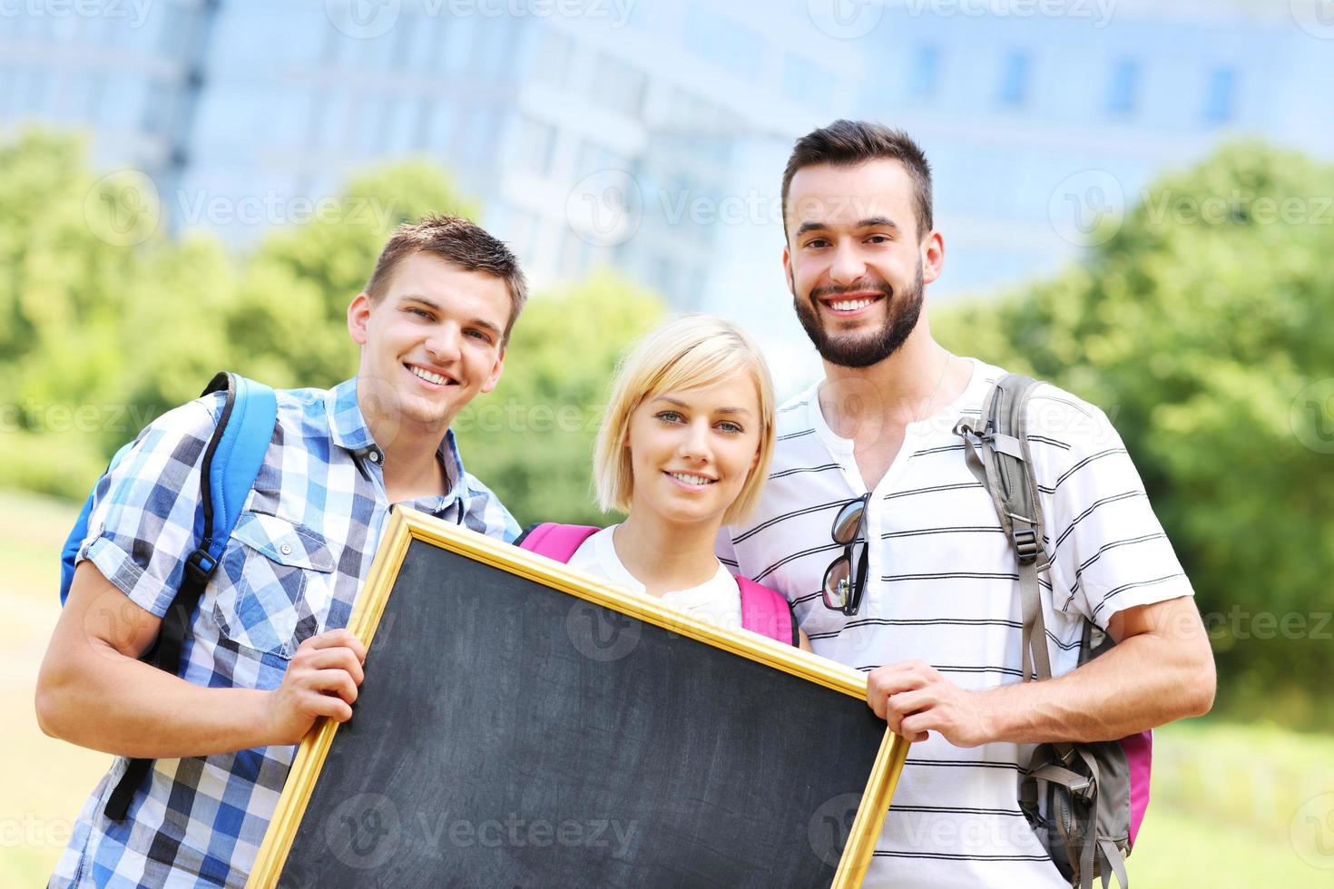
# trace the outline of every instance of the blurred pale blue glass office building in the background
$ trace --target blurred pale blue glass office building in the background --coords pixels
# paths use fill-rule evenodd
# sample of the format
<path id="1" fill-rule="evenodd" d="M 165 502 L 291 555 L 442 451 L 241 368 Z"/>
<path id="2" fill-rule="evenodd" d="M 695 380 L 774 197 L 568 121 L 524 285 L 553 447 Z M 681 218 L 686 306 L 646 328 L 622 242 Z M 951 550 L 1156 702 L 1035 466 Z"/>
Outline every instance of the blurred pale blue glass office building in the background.
<path id="1" fill-rule="evenodd" d="M 778 187 L 791 140 L 863 116 L 931 157 L 950 247 L 932 293 L 948 299 L 1070 261 L 1098 219 L 1222 139 L 1327 155 L 1322 11 L 15 0 L 0 9 L 0 128 L 87 131 L 100 167 L 153 179 L 175 229 L 237 247 L 358 171 L 426 156 L 539 285 L 616 265 L 678 308 L 739 313 L 786 299 Z"/>

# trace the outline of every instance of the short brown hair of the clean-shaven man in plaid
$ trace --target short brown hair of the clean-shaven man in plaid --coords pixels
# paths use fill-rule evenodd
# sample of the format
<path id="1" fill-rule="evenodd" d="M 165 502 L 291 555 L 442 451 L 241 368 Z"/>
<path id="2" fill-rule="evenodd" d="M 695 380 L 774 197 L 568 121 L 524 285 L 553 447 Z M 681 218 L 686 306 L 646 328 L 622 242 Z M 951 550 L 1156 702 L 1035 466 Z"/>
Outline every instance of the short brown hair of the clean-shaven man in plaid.
<path id="1" fill-rule="evenodd" d="M 366 283 L 366 293 L 372 303 L 384 296 L 398 264 L 414 253 L 432 253 L 466 272 L 483 272 L 503 280 L 510 291 L 510 321 L 504 325 L 502 345 L 510 341 L 510 331 L 528 300 L 528 283 L 508 247 L 480 225 L 458 216 L 432 215 L 416 223 L 403 223 L 380 251 L 371 280 Z"/>

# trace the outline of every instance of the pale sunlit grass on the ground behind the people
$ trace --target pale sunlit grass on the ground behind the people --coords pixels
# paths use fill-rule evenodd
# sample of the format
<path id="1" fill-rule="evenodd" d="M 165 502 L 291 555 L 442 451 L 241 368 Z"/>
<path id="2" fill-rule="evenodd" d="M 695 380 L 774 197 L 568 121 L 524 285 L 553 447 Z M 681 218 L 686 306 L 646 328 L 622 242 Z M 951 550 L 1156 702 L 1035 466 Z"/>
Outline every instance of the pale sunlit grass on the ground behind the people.
<path id="1" fill-rule="evenodd" d="M 45 737 L 33 716 L 73 517 L 67 504 L 0 490 L 0 886 L 45 881 L 111 761 Z M 1137 889 L 1334 885 L 1334 737 L 1209 717 L 1157 732 L 1153 804 L 1129 870 Z"/>

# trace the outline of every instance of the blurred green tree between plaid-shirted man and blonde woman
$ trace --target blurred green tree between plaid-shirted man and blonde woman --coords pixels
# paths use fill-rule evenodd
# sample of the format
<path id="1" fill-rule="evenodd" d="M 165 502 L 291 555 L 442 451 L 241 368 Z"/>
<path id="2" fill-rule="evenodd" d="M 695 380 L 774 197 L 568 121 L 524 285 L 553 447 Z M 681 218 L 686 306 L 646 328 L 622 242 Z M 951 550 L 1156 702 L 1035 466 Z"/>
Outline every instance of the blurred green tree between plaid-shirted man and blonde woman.
<path id="1" fill-rule="evenodd" d="M 468 470 L 520 524 L 607 522 L 594 502 L 592 443 L 618 357 L 664 308 L 611 272 L 528 303 L 500 384 L 455 423 Z"/>

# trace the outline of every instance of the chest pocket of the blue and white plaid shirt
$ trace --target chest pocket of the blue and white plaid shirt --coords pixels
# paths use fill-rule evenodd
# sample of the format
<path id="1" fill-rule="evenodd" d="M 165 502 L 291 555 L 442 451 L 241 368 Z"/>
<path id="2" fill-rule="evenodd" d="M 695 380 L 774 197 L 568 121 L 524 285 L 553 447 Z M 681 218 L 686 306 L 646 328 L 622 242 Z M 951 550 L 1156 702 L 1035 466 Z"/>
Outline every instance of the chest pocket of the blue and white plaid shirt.
<path id="1" fill-rule="evenodd" d="M 289 660 L 324 626 L 334 565 L 328 541 L 313 529 L 241 513 L 221 565 L 231 582 L 213 601 L 219 630 L 237 645 Z"/>

